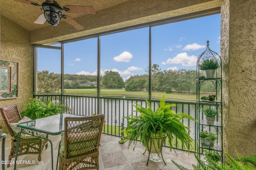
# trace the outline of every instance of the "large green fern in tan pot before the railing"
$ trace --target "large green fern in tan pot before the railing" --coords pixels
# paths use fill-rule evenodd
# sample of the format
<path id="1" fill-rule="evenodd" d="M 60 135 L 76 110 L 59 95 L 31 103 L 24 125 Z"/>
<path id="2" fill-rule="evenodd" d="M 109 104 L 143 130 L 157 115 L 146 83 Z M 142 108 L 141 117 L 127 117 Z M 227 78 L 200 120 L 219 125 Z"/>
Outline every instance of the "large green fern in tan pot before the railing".
<path id="1" fill-rule="evenodd" d="M 165 103 L 165 93 L 159 103 L 159 107 L 154 111 L 148 100 L 146 104 L 148 108 L 143 107 L 137 103 L 132 104 L 136 108 L 138 115 L 129 115 L 127 127 L 123 130 L 126 135 L 122 139 L 122 143 L 129 141 L 128 148 L 131 143 L 134 143 L 134 148 L 138 140 L 146 147 L 147 150 L 152 152 L 151 148 L 154 148 L 157 153 L 160 153 L 162 149 L 162 140 L 166 137 L 168 140 L 167 145 L 170 145 L 170 151 L 172 150 L 172 141 L 175 139 L 180 140 L 180 144 L 187 147 L 193 141 L 188 131 L 189 127 L 186 127 L 182 120 L 190 119 L 196 121 L 193 117 L 185 113 L 176 113 L 171 109 L 174 104 Z M 155 142 L 150 143 L 150 141 Z"/>

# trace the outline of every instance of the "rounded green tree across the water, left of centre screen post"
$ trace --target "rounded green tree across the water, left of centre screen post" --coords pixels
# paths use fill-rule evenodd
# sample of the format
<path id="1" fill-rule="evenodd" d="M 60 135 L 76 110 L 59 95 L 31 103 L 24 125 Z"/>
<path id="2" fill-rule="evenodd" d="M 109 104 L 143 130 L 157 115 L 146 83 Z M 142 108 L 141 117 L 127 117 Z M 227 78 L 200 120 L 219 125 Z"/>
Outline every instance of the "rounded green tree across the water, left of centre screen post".
<path id="1" fill-rule="evenodd" d="M 106 71 L 102 78 L 102 85 L 105 88 L 123 88 L 125 83 L 118 72 Z"/>

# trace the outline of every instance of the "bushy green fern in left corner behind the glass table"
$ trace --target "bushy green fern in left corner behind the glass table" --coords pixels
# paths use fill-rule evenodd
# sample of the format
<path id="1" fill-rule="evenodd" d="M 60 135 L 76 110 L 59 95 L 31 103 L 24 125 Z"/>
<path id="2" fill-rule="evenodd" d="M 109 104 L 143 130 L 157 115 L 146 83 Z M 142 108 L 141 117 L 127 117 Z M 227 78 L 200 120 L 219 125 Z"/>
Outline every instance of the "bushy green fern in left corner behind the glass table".
<path id="1" fill-rule="evenodd" d="M 48 100 L 46 103 L 30 98 L 32 102 L 30 102 L 26 106 L 26 111 L 21 111 L 21 116 L 29 117 L 30 119 L 39 119 L 42 117 L 48 117 L 51 115 L 56 115 L 61 113 L 64 110 L 63 104 L 54 104 Z"/>

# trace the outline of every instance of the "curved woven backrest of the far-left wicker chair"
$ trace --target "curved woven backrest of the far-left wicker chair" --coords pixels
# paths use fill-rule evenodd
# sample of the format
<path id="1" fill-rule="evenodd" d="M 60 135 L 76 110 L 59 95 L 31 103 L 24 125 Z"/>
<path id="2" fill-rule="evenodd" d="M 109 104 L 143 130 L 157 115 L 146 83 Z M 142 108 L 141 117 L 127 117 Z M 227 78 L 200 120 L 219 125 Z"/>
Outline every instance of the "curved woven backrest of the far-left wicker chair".
<path id="1" fill-rule="evenodd" d="M 17 123 L 21 119 L 20 111 L 18 109 L 18 105 L 14 104 L 11 106 L 6 106 L 0 108 L 0 112 L 2 118 L 4 120 L 4 124 L 8 130 L 8 133 L 13 137 L 16 135 L 14 131 L 10 128 L 10 123 Z"/>

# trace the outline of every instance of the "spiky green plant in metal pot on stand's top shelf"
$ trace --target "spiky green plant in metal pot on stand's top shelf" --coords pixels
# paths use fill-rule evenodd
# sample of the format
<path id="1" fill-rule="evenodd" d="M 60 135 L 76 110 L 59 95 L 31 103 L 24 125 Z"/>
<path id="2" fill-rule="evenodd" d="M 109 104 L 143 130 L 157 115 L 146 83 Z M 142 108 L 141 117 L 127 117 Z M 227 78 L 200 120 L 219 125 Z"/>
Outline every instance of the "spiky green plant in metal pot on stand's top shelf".
<path id="1" fill-rule="evenodd" d="M 217 68 L 219 68 L 218 60 L 214 58 L 205 59 L 199 65 L 200 70 L 204 70 L 205 78 L 214 78 Z"/>

